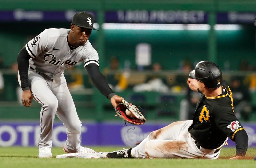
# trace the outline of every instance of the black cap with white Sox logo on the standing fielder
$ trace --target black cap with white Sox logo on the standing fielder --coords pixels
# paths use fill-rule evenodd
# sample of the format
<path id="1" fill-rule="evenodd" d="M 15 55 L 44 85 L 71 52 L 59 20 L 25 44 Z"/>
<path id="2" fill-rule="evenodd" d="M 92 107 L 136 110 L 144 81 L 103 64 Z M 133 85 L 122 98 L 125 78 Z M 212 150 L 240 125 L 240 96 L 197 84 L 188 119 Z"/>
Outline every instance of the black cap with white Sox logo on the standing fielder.
<path id="1" fill-rule="evenodd" d="M 79 27 L 97 30 L 93 27 L 94 16 L 92 14 L 86 13 L 86 12 L 77 12 L 73 16 L 71 24 L 79 26 Z"/>

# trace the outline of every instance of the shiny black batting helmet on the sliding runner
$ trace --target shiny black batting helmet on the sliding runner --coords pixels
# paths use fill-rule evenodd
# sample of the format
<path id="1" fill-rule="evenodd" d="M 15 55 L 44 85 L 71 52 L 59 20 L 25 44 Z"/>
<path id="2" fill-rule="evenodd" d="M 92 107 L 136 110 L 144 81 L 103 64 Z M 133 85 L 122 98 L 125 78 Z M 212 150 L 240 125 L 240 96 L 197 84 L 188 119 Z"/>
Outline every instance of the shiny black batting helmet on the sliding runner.
<path id="1" fill-rule="evenodd" d="M 193 79 L 204 83 L 207 88 L 214 89 L 222 85 L 222 72 L 218 65 L 210 61 L 201 61 L 196 68 L 189 73 Z"/>

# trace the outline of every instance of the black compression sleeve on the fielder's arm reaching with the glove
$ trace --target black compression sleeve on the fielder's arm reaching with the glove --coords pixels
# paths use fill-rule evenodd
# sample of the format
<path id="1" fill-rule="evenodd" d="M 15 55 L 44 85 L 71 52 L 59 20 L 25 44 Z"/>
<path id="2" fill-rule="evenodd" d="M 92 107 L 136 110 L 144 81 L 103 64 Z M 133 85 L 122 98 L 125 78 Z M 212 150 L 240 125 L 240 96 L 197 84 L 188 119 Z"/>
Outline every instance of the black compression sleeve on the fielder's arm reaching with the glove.
<path id="1" fill-rule="evenodd" d="M 113 96 L 113 90 L 109 87 L 108 81 L 105 76 L 100 73 L 100 69 L 98 65 L 94 63 L 90 63 L 86 65 L 86 70 L 92 80 L 94 86 L 102 93 L 102 95 L 106 96 L 108 99 L 111 99 Z M 110 95 L 111 96 L 108 96 Z M 114 94 L 115 95 L 115 94 Z"/>

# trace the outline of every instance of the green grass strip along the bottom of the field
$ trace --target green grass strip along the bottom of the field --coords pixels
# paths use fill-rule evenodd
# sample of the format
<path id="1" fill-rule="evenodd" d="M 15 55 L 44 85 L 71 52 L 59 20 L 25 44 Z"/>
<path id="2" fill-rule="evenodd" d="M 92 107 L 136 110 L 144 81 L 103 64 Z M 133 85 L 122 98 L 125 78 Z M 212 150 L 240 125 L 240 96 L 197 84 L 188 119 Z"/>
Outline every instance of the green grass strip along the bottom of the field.
<path id="1" fill-rule="evenodd" d="M 122 147 L 91 147 L 96 151 L 108 152 L 122 149 Z M 64 154 L 62 148 L 52 148 L 53 157 Z M 235 155 L 234 148 L 223 148 L 221 158 L 229 158 Z M 0 147 L 1 168 L 252 168 L 256 161 L 252 158 L 256 155 L 256 149 L 248 149 L 249 160 L 206 160 L 206 159 L 39 159 L 36 147 Z"/>

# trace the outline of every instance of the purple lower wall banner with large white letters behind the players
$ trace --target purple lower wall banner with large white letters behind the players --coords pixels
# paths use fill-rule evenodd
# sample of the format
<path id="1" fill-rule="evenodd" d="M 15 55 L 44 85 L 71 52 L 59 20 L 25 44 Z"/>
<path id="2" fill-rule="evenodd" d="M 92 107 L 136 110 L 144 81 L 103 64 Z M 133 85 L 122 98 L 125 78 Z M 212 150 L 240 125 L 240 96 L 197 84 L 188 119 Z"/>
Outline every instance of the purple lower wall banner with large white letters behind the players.
<path id="1" fill-rule="evenodd" d="M 86 123 L 82 125 L 81 144 L 83 146 L 129 146 L 134 147 L 154 130 L 169 123 L 147 123 L 133 126 L 123 123 Z M 248 136 L 249 147 L 256 146 L 256 124 L 243 124 Z M 38 146 L 40 126 L 36 122 L 0 122 L 0 146 Z M 66 128 L 62 123 L 53 125 L 53 146 L 62 147 L 67 139 Z M 234 147 L 230 139 L 228 146 Z"/>

